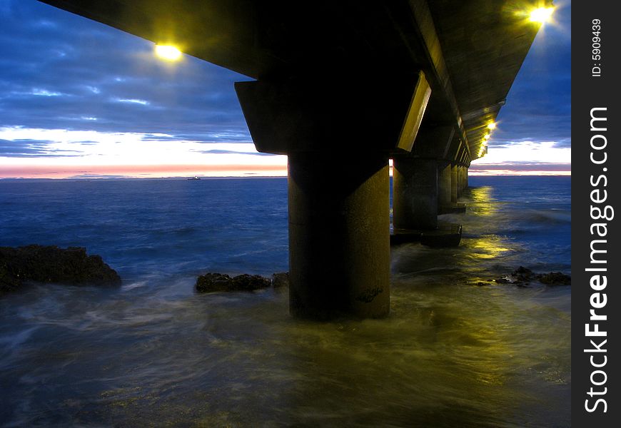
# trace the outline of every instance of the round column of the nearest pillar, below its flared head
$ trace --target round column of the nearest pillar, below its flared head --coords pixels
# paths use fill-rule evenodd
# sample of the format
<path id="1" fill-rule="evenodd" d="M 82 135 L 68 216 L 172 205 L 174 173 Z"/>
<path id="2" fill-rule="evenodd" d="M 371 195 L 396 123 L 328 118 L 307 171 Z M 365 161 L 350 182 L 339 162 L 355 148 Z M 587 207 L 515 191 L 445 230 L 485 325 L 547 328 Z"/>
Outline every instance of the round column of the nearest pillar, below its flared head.
<path id="1" fill-rule="evenodd" d="M 387 157 L 289 155 L 292 315 L 388 315 L 389 190 Z"/>

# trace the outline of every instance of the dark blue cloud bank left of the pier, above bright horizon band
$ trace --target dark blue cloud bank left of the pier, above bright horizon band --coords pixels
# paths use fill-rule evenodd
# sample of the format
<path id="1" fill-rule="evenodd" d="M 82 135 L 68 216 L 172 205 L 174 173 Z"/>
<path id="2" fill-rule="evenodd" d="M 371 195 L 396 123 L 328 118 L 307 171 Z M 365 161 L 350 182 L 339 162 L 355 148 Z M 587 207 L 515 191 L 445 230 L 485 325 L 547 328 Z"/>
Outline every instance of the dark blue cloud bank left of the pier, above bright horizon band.
<path id="1" fill-rule="evenodd" d="M 163 63 L 136 36 L 35 0 L 0 1 L 0 127 L 251 140 L 233 89 L 245 76 L 188 56 Z"/>

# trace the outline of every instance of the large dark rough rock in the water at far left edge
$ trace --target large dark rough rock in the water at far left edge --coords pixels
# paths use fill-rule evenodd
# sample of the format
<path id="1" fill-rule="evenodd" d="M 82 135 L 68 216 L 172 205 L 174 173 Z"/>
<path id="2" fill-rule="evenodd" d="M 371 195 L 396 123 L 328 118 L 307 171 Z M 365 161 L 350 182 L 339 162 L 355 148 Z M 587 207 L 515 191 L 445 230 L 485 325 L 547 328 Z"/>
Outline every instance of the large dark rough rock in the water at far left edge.
<path id="1" fill-rule="evenodd" d="M 55 245 L 0 247 L 0 291 L 16 290 L 24 282 L 70 285 L 121 285 L 121 277 L 99 255 L 86 248 Z"/>

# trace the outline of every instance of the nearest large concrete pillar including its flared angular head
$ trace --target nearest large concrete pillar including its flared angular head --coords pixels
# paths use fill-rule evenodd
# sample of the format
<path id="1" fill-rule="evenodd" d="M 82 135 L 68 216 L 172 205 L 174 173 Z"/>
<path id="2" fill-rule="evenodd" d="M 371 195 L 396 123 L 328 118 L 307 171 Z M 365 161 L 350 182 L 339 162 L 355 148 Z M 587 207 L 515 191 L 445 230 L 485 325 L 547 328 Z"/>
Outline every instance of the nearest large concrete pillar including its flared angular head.
<path id="1" fill-rule="evenodd" d="M 292 315 L 390 310 L 388 154 L 412 150 L 431 88 L 422 71 L 384 77 L 302 69 L 235 84 L 257 150 L 289 156 Z"/>

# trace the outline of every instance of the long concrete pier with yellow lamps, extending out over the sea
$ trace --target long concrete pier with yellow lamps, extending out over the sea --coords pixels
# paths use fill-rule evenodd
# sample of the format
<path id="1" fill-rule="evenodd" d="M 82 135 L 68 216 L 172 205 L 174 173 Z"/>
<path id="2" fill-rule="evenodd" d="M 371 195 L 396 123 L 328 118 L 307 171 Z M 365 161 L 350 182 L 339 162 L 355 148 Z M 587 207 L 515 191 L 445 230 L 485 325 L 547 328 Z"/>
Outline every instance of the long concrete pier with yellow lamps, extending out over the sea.
<path id="1" fill-rule="evenodd" d="M 389 159 L 395 234 L 457 233 L 438 215 L 464 210 L 542 6 L 40 1 L 254 79 L 235 90 L 256 148 L 288 155 L 291 313 L 319 319 L 390 312 Z"/>

